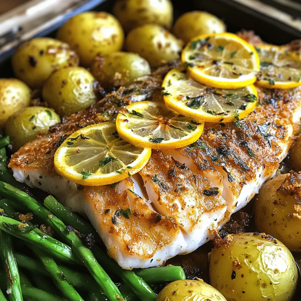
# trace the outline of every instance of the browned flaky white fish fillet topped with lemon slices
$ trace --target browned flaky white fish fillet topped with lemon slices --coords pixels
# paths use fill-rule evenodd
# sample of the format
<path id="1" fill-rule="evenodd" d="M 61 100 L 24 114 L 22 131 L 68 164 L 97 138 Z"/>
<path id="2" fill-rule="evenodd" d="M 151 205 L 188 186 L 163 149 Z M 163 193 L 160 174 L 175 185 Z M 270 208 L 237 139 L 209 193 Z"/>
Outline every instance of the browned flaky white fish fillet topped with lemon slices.
<path id="1" fill-rule="evenodd" d="M 260 42 L 250 33 L 241 36 Z M 246 118 L 206 123 L 197 142 L 176 150 L 153 150 L 141 172 L 118 184 L 84 187 L 54 171 L 60 141 L 77 129 L 114 120 L 132 101 L 163 101 L 162 76 L 171 67 L 159 68 L 51 127 L 21 147 L 9 164 L 18 181 L 47 191 L 88 216 L 109 255 L 126 269 L 163 264 L 211 239 L 213 231 L 275 174 L 299 126 L 301 89 L 258 89 L 260 105 Z M 126 218 L 120 209 L 132 214 Z"/>

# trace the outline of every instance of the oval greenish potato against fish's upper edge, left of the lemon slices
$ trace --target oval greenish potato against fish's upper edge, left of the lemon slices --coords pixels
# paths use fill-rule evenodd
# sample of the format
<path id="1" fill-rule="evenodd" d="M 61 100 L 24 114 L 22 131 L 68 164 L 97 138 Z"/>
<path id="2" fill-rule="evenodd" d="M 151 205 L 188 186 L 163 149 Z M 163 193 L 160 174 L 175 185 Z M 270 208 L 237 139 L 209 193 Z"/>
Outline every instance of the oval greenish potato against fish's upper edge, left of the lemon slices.
<path id="1" fill-rule="evenodd" d="M 129 85 L 136 78 L 151 74 L 147 60 L 132 52 L 115 52 L 95 57 L 91 72 L 102 87 Z"/>

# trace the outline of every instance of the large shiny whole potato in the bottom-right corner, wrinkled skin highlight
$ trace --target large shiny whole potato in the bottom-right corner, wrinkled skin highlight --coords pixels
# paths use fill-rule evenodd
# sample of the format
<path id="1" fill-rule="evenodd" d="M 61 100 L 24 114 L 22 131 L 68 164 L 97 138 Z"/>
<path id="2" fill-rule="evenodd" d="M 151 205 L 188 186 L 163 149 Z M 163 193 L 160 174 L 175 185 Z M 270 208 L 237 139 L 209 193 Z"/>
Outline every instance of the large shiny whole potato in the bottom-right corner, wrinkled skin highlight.
<path id="1" fill-rule="evenodd" d="M 228 235 L 211 251 L 210 284 L 228 301 L 291 300 L 298 278 L 294 258 L 279 240 L 265 236 Z"/>

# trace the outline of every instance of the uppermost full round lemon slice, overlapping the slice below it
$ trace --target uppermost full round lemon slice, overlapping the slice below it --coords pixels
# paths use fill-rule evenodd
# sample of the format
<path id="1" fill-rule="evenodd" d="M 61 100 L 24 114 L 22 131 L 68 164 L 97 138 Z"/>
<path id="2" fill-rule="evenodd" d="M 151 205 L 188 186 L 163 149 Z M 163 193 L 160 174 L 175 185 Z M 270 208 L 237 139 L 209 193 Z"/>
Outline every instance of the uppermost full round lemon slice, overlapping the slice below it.
<path id="1" fill-rule="evenodd" d="M 213 33 L 191 40 L 182 52 L 189 75 L 204 85 L 236 89 L 256 81 L 255 48 L 232 33 Z"/>

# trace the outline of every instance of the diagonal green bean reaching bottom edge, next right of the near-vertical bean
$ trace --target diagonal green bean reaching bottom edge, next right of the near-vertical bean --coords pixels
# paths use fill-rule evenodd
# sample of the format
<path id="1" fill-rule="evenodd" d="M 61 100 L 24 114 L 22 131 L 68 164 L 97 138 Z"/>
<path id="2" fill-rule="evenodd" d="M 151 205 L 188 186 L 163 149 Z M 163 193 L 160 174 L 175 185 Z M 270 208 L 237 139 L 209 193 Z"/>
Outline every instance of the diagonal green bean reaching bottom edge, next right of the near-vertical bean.
<path id="1" fill-rule="evenodd" d="M 48 256 L 42 250 L 28 246 L 31 250 L 36 253 L 36 256 L 39 257 L 42 264 L 44 265 L 46 271 L 48 272 L 50 278 L 54 281 L 54 284 L 59 290 L 63 293 L 67 300 L 70 301 L 83 301 L 79 293 L 70 285 L 67 279 L 64 277 L 63 272 L 57 266 L 54 259 Z"/>

